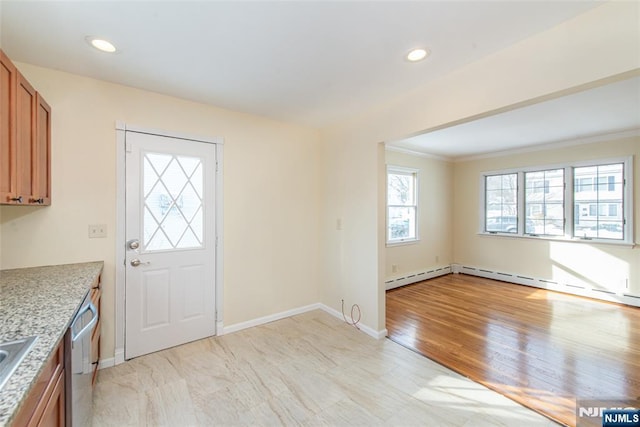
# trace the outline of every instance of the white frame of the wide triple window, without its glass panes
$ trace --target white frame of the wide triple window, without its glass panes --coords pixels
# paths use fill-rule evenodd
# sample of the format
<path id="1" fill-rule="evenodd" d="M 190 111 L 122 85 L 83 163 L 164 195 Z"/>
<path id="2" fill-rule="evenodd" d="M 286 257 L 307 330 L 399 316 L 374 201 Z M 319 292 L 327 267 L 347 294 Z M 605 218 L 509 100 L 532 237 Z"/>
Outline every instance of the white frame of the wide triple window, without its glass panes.
<path id="1" fill-rule="evenodd" d="M 605 238 L 596 238 L 596 237 L 580 237 L 574 236 L 574 174 L 573 169 L 579 167 L 588 167 L 588 166 L 602 166 L 613 163 L 622 163 L 623 164 L 623 202 L 622 202 L 622 215 L 623 215 L 623 239 L 605 239 Z M 565 224 L 564 224 L 564 236 L 552 236 L 552 235 L 536 235 L 536 234 L 527 234 L 525 233 L 525 185 L 524 185 L 524 174 L 525 172 L 539 172 L 550 169 L 564 169 L 564 183 L 565 183 L 565 197 L 564 197 L 564 211 L 565 211 Z M 518 232 L 517 233 L 506 233 L 506 232 L 497 232 L 497 231 L 485 231 L 485 215 L 486 215 L 486 177 L 493 175 L 501 175 L 501 174 L 510 174 L 517 173 L 518 174 Z M 633 156 L 626 157 L 615 157 L 615 158 L 606 158 L 606 159 L 596 159 L 589 161 L 579 161 L 572 163 L 562 163 L 562 164 L 550 164 L 550 165 L 540 165 L 540 166 L 532 166 L 526 168 L 517 168 L 517 169 L 505 169 L 505 170 L 494 170 L 494 171 L 486 171 L 480 174 L 480 218 L 479 218 L 479 235 L 491 235 L 491 236 L 501 236 L 501 237 L 511 237 L 511 238 L 530 238 L 530 239 L 542 239 L 542 240 L 561 240 L 561 241 L 570 241 L 570 242 L 581 242 L 581 243 L 604 243 L 611 245 L 622 245 L 622 246 L 634 246 L 635 245 L 635 237 L 634 237 L 634 225 L 633 225 Z"/>

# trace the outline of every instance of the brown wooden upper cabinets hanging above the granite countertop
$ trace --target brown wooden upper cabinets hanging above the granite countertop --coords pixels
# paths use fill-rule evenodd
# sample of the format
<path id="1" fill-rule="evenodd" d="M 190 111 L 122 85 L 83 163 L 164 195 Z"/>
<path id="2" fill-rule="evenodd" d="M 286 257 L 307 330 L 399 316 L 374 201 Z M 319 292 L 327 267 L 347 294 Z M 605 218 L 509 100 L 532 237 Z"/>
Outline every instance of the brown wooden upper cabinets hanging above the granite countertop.
<path id="1" fill-rule="evenodd" d="M 51 107 L 1 50 L 0 204 L 51 204 Z"/>

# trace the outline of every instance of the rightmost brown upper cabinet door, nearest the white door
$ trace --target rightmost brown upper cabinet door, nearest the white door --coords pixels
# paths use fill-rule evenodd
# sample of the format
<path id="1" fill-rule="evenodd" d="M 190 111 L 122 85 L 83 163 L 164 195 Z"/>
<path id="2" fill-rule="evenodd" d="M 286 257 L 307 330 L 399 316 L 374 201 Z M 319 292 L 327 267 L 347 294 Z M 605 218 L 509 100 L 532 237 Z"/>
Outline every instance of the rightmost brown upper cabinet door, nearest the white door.
<path id="1" fill-rule="evenodd" d="M 51 107 L 36 94 L 35 199 L 29 203 L 51 204 Z"/>

